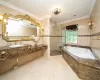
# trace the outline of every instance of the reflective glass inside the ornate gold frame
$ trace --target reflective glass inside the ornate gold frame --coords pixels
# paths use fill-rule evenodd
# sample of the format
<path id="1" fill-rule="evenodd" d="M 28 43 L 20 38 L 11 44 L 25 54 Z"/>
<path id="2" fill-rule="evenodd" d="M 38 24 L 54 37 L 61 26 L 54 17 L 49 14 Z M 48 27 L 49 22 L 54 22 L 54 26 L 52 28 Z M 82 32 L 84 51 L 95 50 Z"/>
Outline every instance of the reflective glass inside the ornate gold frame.
<path id="1" fill-rule="evenodd" d="M 37 26 L 28 20 L 9 18 L 6 25 L 8 36 L 37 36 Z"/>

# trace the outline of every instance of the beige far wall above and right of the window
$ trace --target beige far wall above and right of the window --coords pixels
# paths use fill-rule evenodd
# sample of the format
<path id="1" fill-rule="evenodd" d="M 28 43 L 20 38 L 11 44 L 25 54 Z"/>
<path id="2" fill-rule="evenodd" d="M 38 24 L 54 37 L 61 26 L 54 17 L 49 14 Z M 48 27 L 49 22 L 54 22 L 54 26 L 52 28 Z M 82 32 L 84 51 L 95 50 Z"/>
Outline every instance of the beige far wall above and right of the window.
<path id="1" fill-rule="evenodd" d="M 78 24 L 78 35 L 90 35 L 90 28 L 88 26 L 89 18 L 80 19 L 72 22 L 61 24 L 62 29 L 68 25 Z M 90 37 L 78 37 L 78 45 L 90 46 Z"/>

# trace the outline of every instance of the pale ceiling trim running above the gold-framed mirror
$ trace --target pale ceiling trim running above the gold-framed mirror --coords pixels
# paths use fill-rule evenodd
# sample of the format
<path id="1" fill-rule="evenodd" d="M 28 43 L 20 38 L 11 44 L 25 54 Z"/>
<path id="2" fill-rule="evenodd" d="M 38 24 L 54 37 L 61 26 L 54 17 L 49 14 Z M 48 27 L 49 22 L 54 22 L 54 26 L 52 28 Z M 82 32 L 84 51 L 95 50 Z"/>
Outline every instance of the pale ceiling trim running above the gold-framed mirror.
<path id="1" fill-rule="evenodd" d="M 16 6 L 14 6 L 14 5 L 12 5 L 12 4 L 10 4 L 10 3 L 4 1 L 4 0 L 0 1 L 0 4 L 1 4 L 1 5 L 4 5 L 4 6 L 6 6 L 6 7 L 9 7 L 9 8 L 11 8 L 11 9 L 14 9 L 14 10 L 16 10 L 16 11 L 22 12 L 22 13 L 24 13 L 24 14 L 28 14 L 28 15 L 30 15 L 30 16 L 32 16 L 32 17 L 38 19 L 38 20 L 41 20 L 39 17 L 33 15 L 32 13 L 29 13 L 29 12 L 23 10 L 23 9 L 20 9 L 20 8 L 18 8 L 18 7 L 16 7 Z"/>

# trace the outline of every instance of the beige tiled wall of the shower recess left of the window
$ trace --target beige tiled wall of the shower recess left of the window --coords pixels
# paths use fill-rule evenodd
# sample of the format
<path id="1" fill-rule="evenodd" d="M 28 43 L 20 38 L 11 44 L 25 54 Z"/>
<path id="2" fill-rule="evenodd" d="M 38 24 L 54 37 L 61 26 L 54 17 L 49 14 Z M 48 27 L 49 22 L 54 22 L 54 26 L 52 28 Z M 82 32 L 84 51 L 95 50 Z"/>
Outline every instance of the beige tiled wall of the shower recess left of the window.
<path id="1" fill-rule="evenodd" d="M 61 26 L 52 24 L 50 27 L 50 51 L 59 50 L 61 45 Z"/>

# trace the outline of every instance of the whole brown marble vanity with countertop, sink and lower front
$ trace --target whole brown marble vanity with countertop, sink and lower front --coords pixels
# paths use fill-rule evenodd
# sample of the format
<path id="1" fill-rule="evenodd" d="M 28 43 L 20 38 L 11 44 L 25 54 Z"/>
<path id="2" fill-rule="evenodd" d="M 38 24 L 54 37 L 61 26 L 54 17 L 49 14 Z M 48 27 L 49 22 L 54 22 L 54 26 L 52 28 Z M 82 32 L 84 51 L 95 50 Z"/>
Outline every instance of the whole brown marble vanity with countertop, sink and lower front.
<path id="1" fill-rule="evenodd" d="M 0 47 L 0 74 L 43 56 L 46 45 L 11 45 Z"/>

